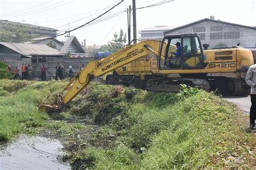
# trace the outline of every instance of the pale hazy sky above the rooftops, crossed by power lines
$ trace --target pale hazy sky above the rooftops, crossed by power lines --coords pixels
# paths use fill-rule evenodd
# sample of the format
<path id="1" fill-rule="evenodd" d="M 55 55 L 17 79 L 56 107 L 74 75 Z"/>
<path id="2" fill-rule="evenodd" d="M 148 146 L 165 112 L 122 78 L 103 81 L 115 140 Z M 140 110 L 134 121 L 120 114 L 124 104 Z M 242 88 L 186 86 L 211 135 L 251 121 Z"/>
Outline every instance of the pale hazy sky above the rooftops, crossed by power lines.
<path id="1" fill-rule="evenodd" d="M 119 2 L 122 1 L 0 0 L 0 19 L 51 27 L 62 34 L 99 17 Z M 129 5 L 132 6 L 132 0 L 124 0 L 89 25 L 70 32 L 70 36 L 76 36 L 80 42 L 85 39 L 88 46 L 107 44 L 120 29 L 127 33 Z M 256 0 L 136 0 L 136 8 L 137 38 L 138 32 L 147 27 L 182 26 L 210 16 L 224 22 L 256 26 Z M 57 37 L 58 40 L 67 38 Z"/>

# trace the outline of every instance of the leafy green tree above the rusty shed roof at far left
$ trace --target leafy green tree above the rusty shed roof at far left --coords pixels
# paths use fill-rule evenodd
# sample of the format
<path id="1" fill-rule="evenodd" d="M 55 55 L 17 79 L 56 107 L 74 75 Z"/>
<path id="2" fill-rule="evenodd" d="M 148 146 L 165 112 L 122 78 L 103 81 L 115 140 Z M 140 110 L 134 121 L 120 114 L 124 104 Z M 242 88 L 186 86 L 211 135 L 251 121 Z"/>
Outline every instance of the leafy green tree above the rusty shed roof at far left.
<path id="1" fill-rule="evenodd" d="M 4 24 L 0 31 L 1 42 L 25 42 L 27 40 L 37 38 L 38 36 L 32 33 L 37 31 L 29 26 Z"/>

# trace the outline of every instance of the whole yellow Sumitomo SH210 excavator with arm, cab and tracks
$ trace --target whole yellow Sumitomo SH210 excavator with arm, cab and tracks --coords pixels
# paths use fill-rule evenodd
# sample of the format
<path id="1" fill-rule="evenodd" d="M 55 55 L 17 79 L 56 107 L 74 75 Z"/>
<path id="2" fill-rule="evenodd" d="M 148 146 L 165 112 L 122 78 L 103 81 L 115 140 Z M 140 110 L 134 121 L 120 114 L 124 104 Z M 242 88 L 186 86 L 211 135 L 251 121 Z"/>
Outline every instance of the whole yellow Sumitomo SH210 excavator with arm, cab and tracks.
<path id="1" fill-rule="evenodd" d="M 172 55 L 179 42 L 179 56 Z M 207 76 L 208 73 L 242 73 L 253 65 L 252 52 L 248 49 L 230 47 L 228 50 L 211 49 L 203 53 L 197 34 L 176 34 L 165 36 L 163 40 L 143 40 L 135 45 L 127 45 L 99 61 L 91 61 L 69 82 L 51 104 L 42 104 L 39 109 L 46 112 L 62 110 L 95 77 L 102 76 L 127 63 L 147 55 L 158 56 L 157 79 L 147 81 L 149 91 L 179 91 L 180 84 L 209 91 L 225 88 L 231 93 L 247 93 L 248 86 L 241 79 L 223 76 Z M 180 74 L 180 77 L 170 77 Z M 162 76 L 164 75 L 164 76 Z"/>

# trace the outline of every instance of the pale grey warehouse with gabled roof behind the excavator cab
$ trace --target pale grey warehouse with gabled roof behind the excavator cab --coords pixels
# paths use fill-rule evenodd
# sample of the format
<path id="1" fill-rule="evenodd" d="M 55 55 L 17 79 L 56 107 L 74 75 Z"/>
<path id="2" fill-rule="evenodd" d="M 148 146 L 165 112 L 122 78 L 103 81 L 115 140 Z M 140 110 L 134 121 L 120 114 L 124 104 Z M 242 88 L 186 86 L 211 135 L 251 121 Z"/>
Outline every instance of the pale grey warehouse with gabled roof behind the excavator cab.
<path id="1" fill-rule="evenodd" d="M 179 27 L 161 27 L 161 29 L 144 29 L 139 31 L 141 39 L 161 39 L 168 34 L 197 33 L 201 44 L 214 46 L 238 45 L 245 48 L 256 47 L 256 27 L 239 25 L 205 18 Z M 166 30 L 166 31 L 164 31 Z M 163 34 L 164 32 L 164 34 Z"/>

